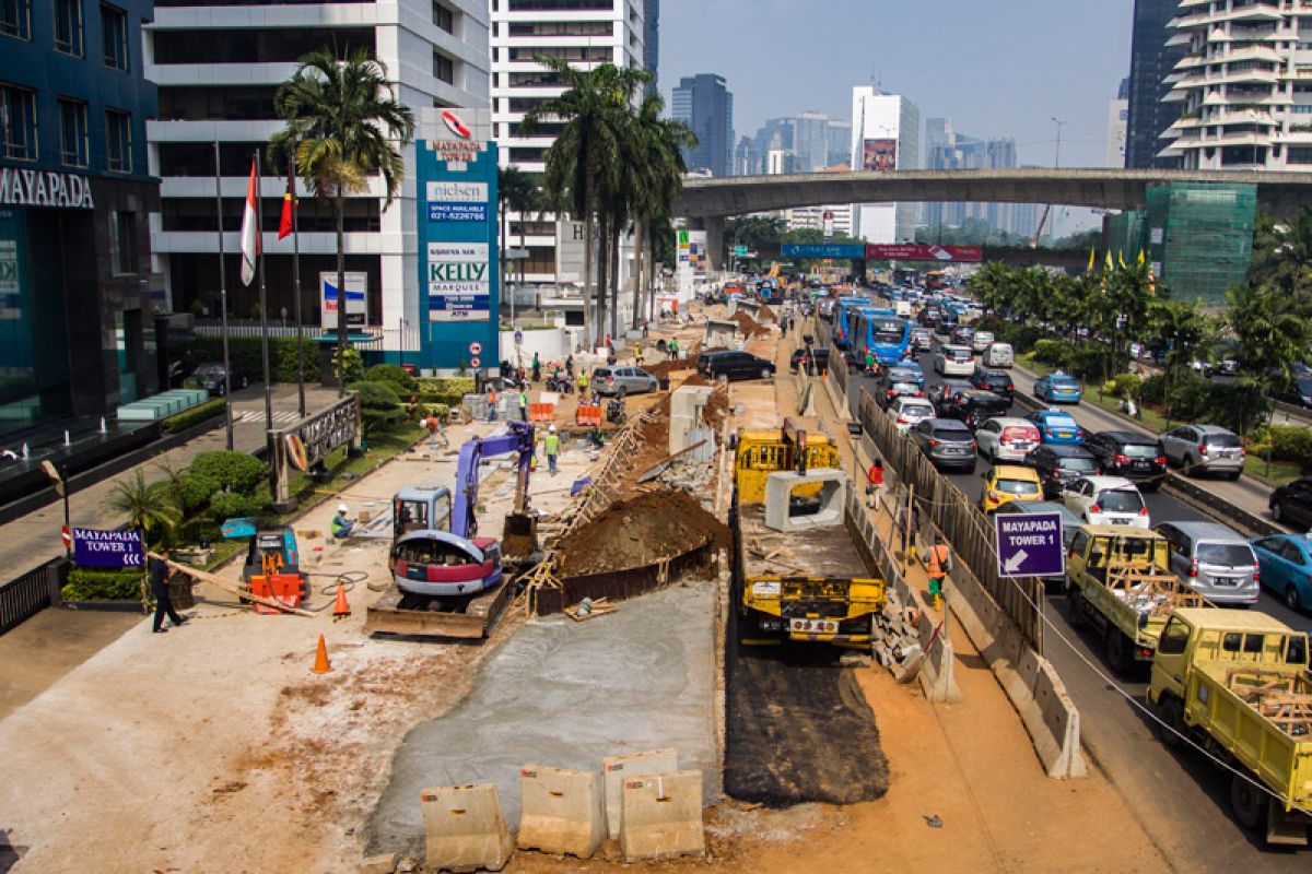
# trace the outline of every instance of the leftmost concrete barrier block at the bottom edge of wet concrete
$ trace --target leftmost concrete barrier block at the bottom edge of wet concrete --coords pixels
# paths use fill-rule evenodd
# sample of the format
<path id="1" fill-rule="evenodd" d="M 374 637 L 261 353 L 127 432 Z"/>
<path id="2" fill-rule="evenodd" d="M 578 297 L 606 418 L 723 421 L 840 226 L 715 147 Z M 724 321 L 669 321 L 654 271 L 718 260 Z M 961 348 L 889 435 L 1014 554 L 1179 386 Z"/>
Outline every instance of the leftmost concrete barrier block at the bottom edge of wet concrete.
<path id="1" fill-rule="evenodd" d="M 500 871 L 510 861 L 514 841 L 495 784 L 424 789 L 420 805 L 428 867 Z"/>

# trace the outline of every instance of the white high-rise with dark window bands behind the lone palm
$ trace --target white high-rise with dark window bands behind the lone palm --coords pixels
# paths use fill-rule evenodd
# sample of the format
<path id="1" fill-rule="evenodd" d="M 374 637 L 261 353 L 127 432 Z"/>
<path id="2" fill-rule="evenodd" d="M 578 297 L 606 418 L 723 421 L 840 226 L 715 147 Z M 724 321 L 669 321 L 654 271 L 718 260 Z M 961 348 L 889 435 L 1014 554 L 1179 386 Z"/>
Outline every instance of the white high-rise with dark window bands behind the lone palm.
<path id="1" fill-rule="evenodd" d="M 236 278 L 247 180 L 255 152 L 283 126 L 274 94 L 306 52 L 327 47 L 342 58 L 367 51 L 386 64 L 396 96 L 416 115 L 430 107 L 487 109 L 485 3 L 399 0 L 352 7 L 350 14 L 344 9 L 328 0 L 164 0 L 146 28 L 146 72 L 159 83 L 159 119 L 147 127 L 151 170 L 163 180 L 152 240 L 174 311 L 218 313 L 218 142 L 230 309 L 239 318 L 255 314 L 257 290 Z M 407 180 L 413 180 L 415 147 L 404 159 Z M 293 246 L 277 238 L 285 189 L 285 168 L 265 162 L 260 193 L 269 314 L 290 316 Z M 337 241 L 331 202 L 302 195 L 300 303 L 304 321 L 314 325 L 320 320 L 320 273 L 336 273 Z M 383 349 L 391 351 L 401 347 L 403 320 L 415 328 L 426 320 L 415 269 L 415 210 L 413 182 L 386 206 L 377 177 L 345 202 L 346 270 L 363 274 L 366 324 L 387 329 Z"/>

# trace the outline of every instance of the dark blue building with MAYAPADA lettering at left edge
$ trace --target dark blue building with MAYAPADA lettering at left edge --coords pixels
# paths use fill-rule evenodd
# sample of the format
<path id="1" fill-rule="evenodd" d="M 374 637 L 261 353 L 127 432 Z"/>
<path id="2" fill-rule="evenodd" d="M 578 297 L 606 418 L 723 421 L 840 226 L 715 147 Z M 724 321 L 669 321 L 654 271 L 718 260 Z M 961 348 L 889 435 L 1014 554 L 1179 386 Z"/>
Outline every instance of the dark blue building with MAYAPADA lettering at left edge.
<path id="1" fill-rule="evenodd" d="M 155 393 L 150 0 L 0 7 L 0 436 Z M 60 425 L 56 425 L 60 423 Z"/>

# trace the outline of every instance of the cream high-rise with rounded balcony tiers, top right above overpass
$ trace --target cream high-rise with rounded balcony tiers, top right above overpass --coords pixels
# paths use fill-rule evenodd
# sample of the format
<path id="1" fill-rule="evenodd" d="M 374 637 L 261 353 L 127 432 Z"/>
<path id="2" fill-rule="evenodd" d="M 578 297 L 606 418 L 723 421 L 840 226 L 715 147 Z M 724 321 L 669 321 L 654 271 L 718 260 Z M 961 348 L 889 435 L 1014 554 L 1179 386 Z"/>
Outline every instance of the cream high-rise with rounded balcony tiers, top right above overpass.
<path id="1" fill-rule="evenodd" d="M 1190 170 L 1312 168 L 1312 16 L 1304 4 L 1182 3 L 1166 76 L 1181 109 L 1161 151 Z"/>

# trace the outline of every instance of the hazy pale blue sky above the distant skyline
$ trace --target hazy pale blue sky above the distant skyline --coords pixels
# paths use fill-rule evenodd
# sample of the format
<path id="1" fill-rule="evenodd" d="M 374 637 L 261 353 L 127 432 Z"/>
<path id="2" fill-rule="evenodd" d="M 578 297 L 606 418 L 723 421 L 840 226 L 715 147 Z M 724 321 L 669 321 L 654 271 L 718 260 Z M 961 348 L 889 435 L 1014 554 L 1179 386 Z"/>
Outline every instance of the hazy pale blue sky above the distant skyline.
<path id="1" fill-rule="evenodd" d="M 661 0 L 660 84 L 719 73 L 737 136 L 768 118 L 846 119 L 882 84 L 971 136 L 1014 136 L 1021 164 L 1102 166 L 1107 101 L 1130 75 L 1134 0 Z"/>

